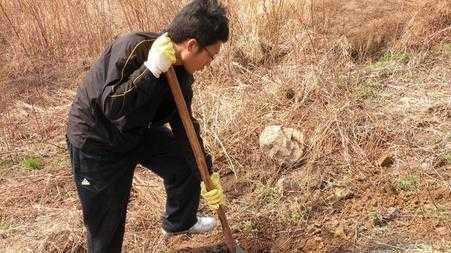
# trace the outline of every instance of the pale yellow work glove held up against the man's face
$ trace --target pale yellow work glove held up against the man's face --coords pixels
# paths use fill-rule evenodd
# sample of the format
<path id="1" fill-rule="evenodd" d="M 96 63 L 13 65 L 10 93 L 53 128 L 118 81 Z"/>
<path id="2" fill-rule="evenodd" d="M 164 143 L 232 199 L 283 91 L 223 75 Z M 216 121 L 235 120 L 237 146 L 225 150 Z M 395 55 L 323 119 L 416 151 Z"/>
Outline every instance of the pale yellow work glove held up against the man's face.
<path id="1" fill-rule="evenodd" d="M 160 74 L 168 71 L 175 62 L 175 50 L 172 41 L 165 33 L 153 42 L 144 65 L 156 78 L 159 78 Z"/>

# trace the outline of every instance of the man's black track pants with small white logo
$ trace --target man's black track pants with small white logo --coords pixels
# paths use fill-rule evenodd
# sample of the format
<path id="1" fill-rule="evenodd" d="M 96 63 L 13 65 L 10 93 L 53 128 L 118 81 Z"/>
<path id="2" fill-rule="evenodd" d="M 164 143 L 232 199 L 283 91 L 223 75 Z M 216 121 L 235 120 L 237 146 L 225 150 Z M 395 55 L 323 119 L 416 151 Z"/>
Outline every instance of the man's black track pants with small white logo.
<path id="1" fill-rule="evenodd" d="M 167 201 L 163 228 L 166 231 L 183 231 L 197 222 L 200 178 L 189 168 L 168 128 L 150 129 L 144 144 L 127 154 L 88 154 L 70 142 L 68 150 L 87 228 L 88 252 L 121 252 L 137 164 L 164 180 Z"/>

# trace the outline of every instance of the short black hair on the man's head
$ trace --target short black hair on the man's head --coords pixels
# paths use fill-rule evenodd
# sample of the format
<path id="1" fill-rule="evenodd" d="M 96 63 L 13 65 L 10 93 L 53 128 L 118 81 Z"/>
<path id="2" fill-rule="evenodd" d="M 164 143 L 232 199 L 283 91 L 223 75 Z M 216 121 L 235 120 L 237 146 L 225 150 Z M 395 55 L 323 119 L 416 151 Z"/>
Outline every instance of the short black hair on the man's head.
<path id="1" fill-rule="evenodd" d="M 175 43 L 196 39 L 201 48 L 229 39 L 226 8 L 218 0 L 193 0 L 183 7 L 167 28 Z"/>

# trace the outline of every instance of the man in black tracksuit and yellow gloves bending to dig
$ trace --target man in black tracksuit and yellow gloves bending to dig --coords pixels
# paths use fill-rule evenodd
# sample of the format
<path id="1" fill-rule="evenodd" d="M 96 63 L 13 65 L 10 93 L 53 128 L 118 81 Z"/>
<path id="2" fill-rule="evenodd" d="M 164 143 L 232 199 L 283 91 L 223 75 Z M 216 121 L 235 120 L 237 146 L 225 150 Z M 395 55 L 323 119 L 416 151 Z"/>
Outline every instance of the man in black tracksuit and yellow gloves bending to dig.
<path id="1" fill-rule="evenodd" d="M 70 109 L 67 139 L 89 252 L 121 251 L 137 164 L 164 179 L 165 235 L 215 227 L 213 217 L 196 214 L 200 176 L 164 72 L 174 67 L 191 108 L 192 74 L 210 64 L 228 36 L 225 8 L 217 0 L 194 0 L 165 33 L 118 38 L 87 73 Z M 202 196 L 215 209 L 223 193 L 218 174 L 212 179 L 216 189 L 202 186 Z"/>

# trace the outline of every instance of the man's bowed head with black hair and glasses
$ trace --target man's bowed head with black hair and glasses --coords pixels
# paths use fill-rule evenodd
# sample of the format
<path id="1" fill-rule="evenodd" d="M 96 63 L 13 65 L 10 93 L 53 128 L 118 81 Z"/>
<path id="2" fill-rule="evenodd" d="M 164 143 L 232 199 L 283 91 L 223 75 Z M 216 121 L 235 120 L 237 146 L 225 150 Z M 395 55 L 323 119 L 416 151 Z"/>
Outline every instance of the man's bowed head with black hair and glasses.
<path id="1" fill-rule="evenodd" d="M 193 0 L 175 16 L 167 32 L 176 44 L 177 64 L 194 73 L 210 64 L 229 39 L 226 9 L 218 0 Z"/>

